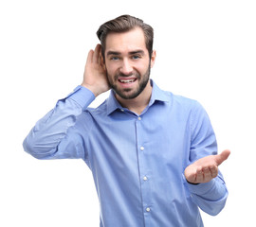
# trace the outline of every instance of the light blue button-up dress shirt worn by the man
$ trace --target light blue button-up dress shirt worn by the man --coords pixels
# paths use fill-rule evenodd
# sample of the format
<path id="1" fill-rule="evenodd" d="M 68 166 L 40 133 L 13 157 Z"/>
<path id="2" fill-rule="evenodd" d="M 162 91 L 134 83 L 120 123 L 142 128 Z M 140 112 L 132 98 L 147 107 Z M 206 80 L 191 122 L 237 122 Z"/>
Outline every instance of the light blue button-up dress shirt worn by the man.
<path id="1" fill-rule="evenodd" d="M 24 141 L 38 159 L 82 158 L 91 169 L 104 227 L 200 227 L 198 207 L 217 215 L 228 197 L 221 173 L 191 184 L 184 169 L 216 154 L 208 114 L 197 102 L 160 90 L 137 115 L 112 91 L 96 109 L 79 86 L 39 120 Z"/>

